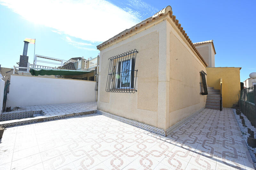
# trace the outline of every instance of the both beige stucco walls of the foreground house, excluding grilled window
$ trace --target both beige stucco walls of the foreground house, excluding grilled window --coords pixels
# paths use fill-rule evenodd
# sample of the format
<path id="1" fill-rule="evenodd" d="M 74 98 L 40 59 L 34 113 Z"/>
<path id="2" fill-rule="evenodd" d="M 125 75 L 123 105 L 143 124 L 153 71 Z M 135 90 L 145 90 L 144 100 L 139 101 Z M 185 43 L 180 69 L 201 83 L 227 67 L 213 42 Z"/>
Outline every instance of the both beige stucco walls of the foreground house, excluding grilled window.
<path id="1" fill-rule="evenodd" d="M 135 63 L 138 91 L 106 92 L 108 58 L 133 49 L 139 52 Z M 206 98 L 200 95 L 199 88 L 199 72 L 205 71 L 205 65 L 196 56 L 169 16 L 102 47 L 97 109 L 169 128 L 205 106 Z"/>

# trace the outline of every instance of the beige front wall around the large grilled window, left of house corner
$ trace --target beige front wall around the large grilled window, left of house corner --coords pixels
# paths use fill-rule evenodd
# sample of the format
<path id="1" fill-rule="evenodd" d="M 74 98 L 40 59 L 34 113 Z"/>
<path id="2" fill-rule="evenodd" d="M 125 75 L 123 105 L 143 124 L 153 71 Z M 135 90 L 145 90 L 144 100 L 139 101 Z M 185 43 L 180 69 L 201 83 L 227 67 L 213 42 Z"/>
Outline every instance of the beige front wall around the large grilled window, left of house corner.
<path id="1" fill-rule="evenodd" d="M 100 49 L 98 109 L 158 128 L 165 128 L 165 120 L 160 116 L 163 114 L 161 110 L 163 103 L 159 103 L 158 98 L 163 96 L 166 98 L 166 94 L 162 94 L 165 87 L 162 86 L 162 82 L 159 82 L 158 75 L 159 68 L 162 71 L 163 64 L 166 67 L 166 20 L 154 24 L 156 21 L 135 34 Z M 133 49 L 139 52 L 135 63 L 135 70 L 138 69 L 135 89 L 138 91 L 134 94 L 106 92 L 108 58 Z M 160 110 L 159 107 L 161 107 Z"/>

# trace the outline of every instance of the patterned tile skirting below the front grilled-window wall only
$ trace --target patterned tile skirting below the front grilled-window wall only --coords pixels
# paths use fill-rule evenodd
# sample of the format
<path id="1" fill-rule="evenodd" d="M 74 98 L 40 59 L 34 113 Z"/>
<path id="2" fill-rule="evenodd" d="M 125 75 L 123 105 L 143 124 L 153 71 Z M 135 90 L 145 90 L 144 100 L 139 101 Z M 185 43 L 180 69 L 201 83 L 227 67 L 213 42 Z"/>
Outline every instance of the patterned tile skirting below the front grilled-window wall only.
<path id="1" fill-rule="evenodd" d="M 121 122 L 124 122 L 124 123 L 129 124 L 129 125 L 135 126 L 137 128 L 148 130 L 149 132 L 153 132 L 153 133 L 156 133 L 158 135 L 166 136 L 164 129 L 156 128 L 154 126 L 146 125 L 144 123 L 140 123 L 140 122 L 137 122 L 137 121 L 134 121 L 134 120 L 126 119 L 126 118 L 123 118 L 121 116 L 116 116 L 114 114 L 110 114 L 110 113 L 103 112 L 103 111 L 100 111 L 100 110 L 96 110 L 96 113 L 107 116 L 109 118 L 112 118 L 112 119 L 115 119 L 115 120 L 118 120 L 118 121 L 121 121 Z"/>

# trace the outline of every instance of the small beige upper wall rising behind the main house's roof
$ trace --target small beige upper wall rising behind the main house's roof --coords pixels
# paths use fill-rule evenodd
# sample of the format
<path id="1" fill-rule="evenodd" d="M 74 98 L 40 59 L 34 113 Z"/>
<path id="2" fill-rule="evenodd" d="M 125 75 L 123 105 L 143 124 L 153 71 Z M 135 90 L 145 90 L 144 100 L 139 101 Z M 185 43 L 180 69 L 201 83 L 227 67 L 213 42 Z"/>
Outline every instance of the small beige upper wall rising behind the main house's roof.
<path id="1" fill-rule="evenodd" d="M 204 58 L 205 62 L 208 64 L 208 67 L 215 67 L 215 53 L 212 43 L 198 45 L 196 46 L 196 50 L 198 50 L 198 52 Z"/>

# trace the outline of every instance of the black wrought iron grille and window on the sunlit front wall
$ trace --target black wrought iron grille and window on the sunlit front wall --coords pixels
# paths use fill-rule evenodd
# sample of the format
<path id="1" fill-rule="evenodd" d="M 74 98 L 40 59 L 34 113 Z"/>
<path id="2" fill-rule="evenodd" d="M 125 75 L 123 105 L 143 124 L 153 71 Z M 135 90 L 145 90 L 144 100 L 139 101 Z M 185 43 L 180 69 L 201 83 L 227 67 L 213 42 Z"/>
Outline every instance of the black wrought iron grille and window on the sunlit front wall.
<path id="1" fill-rule="evenodd" d="M 135 70 L 137 53 L 139 52 L 134 49 L 108 58 L 107 92 L 135 93 L 137 91 L 135 89 L 138 72 Z"/>

